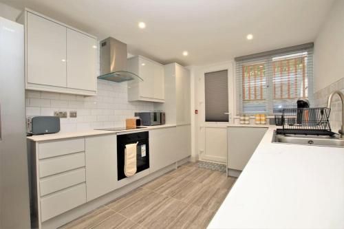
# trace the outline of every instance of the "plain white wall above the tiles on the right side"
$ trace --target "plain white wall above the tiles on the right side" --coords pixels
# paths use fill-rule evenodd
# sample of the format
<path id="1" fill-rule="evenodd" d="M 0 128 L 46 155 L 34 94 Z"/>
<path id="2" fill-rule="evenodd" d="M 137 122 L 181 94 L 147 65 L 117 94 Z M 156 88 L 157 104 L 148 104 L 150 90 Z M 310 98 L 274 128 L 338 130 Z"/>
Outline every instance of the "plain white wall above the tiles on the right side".
<path id="1" fill-rule="evenodd" d="M 336 0 L 314 43 L 314 92 L 344 77 L 344 0 Z"/>

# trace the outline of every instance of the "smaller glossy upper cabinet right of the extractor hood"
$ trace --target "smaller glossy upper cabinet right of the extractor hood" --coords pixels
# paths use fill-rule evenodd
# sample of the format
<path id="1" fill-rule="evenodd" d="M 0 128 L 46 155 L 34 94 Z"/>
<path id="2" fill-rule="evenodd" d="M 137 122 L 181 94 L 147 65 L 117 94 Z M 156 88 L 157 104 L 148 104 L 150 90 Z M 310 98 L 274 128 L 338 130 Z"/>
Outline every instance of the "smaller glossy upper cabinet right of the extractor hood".
<path id="1" fill-rule="evenodd" d="M 143 80 L 128 82 L 128 100 L 164 102 L 164 67 L 143 56 L 134 56 L 128 62 L 128 71 Z"/>

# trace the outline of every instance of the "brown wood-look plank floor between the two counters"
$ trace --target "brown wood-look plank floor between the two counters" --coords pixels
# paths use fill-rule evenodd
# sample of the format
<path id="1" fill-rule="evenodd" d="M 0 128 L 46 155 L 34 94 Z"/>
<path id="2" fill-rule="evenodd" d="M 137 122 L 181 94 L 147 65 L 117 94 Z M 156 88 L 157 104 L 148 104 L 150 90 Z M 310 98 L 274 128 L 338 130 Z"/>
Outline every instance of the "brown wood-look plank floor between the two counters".
<path id="1" fill-rule="evenodd" d="M 206 228 L 234 182 L 190 162 L 62 228 Z"/>

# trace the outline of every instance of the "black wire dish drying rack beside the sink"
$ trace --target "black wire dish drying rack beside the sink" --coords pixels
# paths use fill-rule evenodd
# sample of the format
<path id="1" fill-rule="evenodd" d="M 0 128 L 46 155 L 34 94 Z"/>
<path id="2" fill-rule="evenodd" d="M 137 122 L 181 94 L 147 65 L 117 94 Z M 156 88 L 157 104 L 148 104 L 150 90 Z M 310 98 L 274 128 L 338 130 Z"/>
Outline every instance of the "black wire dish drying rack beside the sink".
<path id="1" fill-rule="evenodd" d="M 330 108 L 287 108 L 282 113 L 275 115 L 275 123 L 282 126 L 277 129 L 277 134 L 297 135 L 334 135 L 331 131 Z"/>

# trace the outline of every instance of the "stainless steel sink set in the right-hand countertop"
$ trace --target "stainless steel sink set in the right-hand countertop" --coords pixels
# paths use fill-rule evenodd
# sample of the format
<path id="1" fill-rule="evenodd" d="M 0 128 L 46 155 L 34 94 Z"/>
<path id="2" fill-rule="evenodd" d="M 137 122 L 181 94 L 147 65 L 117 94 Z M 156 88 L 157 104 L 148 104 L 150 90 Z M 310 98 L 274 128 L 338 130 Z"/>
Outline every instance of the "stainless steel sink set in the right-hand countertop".
<path id="1" fill-rule="evenodd" d="M 274 133 L 273 143 L 303 144 L 312 146 L 344 147 L 344 140 L 335 136 L 314 136 L 314 135 L 279 135 Z"/>

